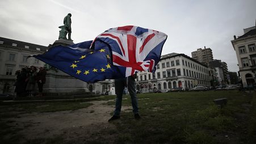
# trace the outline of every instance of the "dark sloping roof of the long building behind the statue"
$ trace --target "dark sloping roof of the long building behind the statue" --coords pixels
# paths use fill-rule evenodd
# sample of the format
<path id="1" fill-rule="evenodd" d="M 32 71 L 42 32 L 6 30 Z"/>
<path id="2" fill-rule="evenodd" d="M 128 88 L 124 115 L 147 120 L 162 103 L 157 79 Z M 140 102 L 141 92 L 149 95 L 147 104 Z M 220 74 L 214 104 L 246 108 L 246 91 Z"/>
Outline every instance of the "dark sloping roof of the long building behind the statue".
<path id="1" fill-rule="evenodd" d="M 40 50 L 43 52 L 46 52 L 48 49 L 47 46 L 26 43 L 24 41 L 7 39 L 5 37 L 0 37 L 0 45 L 16 46 L 18 48 L 24 48 L 24 49 L 30 49 L 30 50 Z"/>

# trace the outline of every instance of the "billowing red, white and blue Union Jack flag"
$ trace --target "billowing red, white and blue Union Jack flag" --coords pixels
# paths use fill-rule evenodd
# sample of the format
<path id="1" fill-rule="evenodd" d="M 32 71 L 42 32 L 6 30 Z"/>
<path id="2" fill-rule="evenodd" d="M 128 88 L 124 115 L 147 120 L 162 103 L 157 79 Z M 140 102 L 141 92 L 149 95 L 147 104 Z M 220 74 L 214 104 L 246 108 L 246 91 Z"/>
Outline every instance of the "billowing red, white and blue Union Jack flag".
<path id="1" fill-rule="evenodd" d="M 128 77 L 137 71 L 154 72 L 166 39 L 167 35 L 159 31 L 124 26 L 108 29 L 97 36 L 94 42 L 101 40 L 109 45 L 113 64 Z"/>

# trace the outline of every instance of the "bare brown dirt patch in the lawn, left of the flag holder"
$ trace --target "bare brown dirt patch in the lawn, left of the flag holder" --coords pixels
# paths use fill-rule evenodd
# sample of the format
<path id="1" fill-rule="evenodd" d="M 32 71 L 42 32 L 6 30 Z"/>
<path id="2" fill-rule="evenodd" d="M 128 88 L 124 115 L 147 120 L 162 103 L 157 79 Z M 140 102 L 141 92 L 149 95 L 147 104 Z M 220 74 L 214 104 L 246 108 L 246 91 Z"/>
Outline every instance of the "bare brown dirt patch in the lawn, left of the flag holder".
<path id="1" fill-rule="evenodd" d="M 75 111 L 47 112 L 47 113 L 26 113 L 17 118 L 9 118 L 13 128 L 19 128 L 17 134 L 22 135 L 21 143 L 26 143 L 29 139 L 47 139 L 62 137 L 67 141 L 85 142 L 89 141 L 92 134 L 95 135 L 102 129 L 115 129 L 115 125 L 108 122 L 114 105 L 106 105 L 107 101 L 90 101 L 90 107 Z M 122 111 L 130 111 L 130 107 L 122 107 Z M 104 134 L 111 137 L 112 134 Z"/>

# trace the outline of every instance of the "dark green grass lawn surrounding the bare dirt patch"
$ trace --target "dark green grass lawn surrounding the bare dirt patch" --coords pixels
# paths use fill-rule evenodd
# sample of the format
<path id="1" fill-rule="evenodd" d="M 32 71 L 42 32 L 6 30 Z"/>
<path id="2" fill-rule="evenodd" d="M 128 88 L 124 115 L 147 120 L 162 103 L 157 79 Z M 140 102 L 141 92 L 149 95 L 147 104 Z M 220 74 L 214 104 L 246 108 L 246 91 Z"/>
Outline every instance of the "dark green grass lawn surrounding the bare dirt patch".
<path id="1" fill-rule="evenodd" d="M 171 92 L 139 94 L 141 120 L 132 112 L 121 112 L 120 120 L 112 122 L 115 129 L 102 129 L 98 139 L 90 143 L 107 143 L 106 134 L 114 134 L 114 143 L 255 143 L 256 95 L 238 91 Z M 130 106 L 129 96 L 123 105 Z M 228 104 L 219 109 L 213 99 L 227 98 Z M 111 100 L 105 96 L 98 100 Z M 114 105 L 115 101 L 107 104 Z M 0 116 L 15 117 L 13 112 L 56 112 L 88 107 L 87 101 L 64 101 L 1 105 Z M 247 105 L 247 106 L 246 106 Z M 8 113 L 5 111 L 9 111 Z M 91 111 L 93 113 L 94 111 Z M 0 118 L 0 121 L 1 121 Z M 6 122 L 0 123 L 0 134 L 13 133 Z M 19 139 L 19 136 L 14 139 Z M 101 139 L 100 139 L 101 138 Z M 51 139 L 34 139 L 29 143 L 65 142 L 60 136 Z M 0 141 L 2 139 L 0 138 Z M 3 140 L 2 140 L 3 141 Z M 72 142 L 70 142 L 72 143 Z"/>

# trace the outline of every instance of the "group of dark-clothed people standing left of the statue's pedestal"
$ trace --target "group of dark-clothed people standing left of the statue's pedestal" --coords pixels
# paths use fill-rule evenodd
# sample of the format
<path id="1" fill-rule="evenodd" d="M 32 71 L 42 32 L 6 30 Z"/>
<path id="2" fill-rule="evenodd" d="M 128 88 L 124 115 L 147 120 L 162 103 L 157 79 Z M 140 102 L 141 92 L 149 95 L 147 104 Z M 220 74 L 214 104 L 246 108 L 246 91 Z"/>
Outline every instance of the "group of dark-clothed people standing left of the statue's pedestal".
<path id="1" fill-rule="evenodd" d="M 39 67 L 39 71 L 35 66 L 24 67 L 17 70 L 15 75 L 16 96 L 43 96 L 46 75 L 44 67 Z"/>

